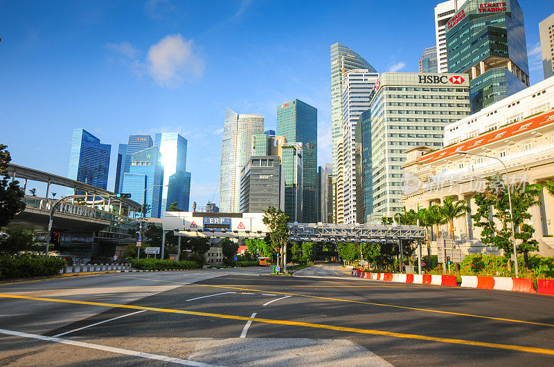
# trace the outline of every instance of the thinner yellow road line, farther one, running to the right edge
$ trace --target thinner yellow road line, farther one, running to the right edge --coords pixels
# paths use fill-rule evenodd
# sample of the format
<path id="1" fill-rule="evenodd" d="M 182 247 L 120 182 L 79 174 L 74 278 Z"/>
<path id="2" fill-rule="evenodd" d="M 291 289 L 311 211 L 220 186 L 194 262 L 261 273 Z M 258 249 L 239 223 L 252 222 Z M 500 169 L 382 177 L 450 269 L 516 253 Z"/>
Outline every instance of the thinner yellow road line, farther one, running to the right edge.
<path id="1" fill-rule="evenodd" d="M 167 282 L 167 283 L 179 283 L 182 285 L 187 285 L 191 287 L 213 287 L 213 288 L 225 288 L 225 289 L 232 289 L 232 290 L 248 290 L 250 292 L 269 292 L 268 290 L 255 290 L 251 288 L 241 288 L 241 287 L 232 287 L 229 285 L 211 285 L 211 284 L 198 284 L 198 283 L 182 283 L 177 281 L 162 281 L 159 279 L 147 279 L 147 278 L 138 278 L 134 277 L 135 279 L 141 279 L 141 280 L 152 280 L 152 281 L 161 281 L 161 282 Z M 450 312 L 450 311 L 439 311 L 439 310 L 429 310 L 427 308 L 415 308 L 415 307 L 407 307 L 407 306 L 400 306 L 400 305 L 386 305 L 384 303 L 373 303 L 373 302 L 364 302 L 364 301 L 354 301 L 352 299 L 340 299 L 340 298 L 331 298 L 331 297 L 321 297 L 321 296 L 312 296 L 310 294 L 298 294 L 298 293 L 286 293 L 286 292 L 276 292 L 274 290 L 271 290 L 271 293 L 275 294 L 285 294 L 290 296 L 298 296 L 298 297 L 307 297 L 307 298 L 315 298 L 315 299 L 326 299 L 328 301 L 340 301 L 340 302 L 350 302 L 350 303 L 361 303 L 364 305 L 377 305 L 382 307 L 391 307 L 391 308 L 402 308 L 404 310 L 414 310 L 414 311 L 422 311 L 422 312 L 435 312 L 438 314 L 454 314 L 456 316 L 465 316 L 465 317 L 478 317 L 480 319 L 490 319 L 490 320 L 499 320 L 499 321 L 508 321 L 508 322 L 515 322 L 515 323 L 529 323 L 531 325 L 541 325 L 541 326 L 554 326 L 551 323 L 540 323 L 540 322 L 533 322 L 533 321 L 524 321 L 524 320 L 515 320 L 515 319 L 503 319 L 501 317 L 492 317 L 492 316 L 481 316 L 479 314 L 463 314 L 461 312 Z"/>

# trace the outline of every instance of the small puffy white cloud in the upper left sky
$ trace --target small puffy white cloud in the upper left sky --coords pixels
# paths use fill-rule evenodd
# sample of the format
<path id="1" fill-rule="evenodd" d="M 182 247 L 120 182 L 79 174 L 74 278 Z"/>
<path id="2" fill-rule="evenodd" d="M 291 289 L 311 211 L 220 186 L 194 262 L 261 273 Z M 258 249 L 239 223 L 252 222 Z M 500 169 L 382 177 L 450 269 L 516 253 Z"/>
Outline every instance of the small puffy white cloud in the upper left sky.
<path id="1" fill-rule="evenodd" d="M 195 52 L 192 40 L 168 35 L 148 51 L 148 73 L 161 86 L 176 87 L 184 79 L 200 77 L 204 60 Z"/>

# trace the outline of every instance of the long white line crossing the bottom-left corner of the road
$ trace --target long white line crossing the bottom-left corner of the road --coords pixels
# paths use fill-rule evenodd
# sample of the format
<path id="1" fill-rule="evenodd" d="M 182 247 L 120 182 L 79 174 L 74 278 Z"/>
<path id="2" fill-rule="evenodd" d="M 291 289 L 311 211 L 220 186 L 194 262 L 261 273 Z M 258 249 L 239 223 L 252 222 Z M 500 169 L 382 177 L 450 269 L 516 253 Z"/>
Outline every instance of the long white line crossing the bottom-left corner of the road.
<path id="1" fill-rule="evenodd" d="M 202 362 L 189 361 L 188 359 L 181 359 L 175 357 L 166 357 L 165 355 L 153 355 L 152 353 L 139 352 L 136 350 L 128 350 L 122 348 L 114 348 L 109 346 L 100 346 L 98 344 L 84 343 L 82 341 L 75 341 L 70 339 L 62 339 L 56 337 L 46 337 L 45 335 L 28 334 L 27 332 L 12 331 L 6 329 L 0 329 L 1 334 L 13 335 L 15 337 L 24 337 L 30 339 L 39 339 L 45 341 L 53 341 L 54 343 L 69 344 L 70 346 L 80 346 L 83 348 L 104 350 L 105 352 L 118 353 L 120 355 L 132 355 L 134 357 L 141 357 L 147 359 L 155 359 L 157 361 L 172 362 L 175 364 L 184 364 L 186 366 L 213 366 L 211 364 L 205 364 Z"/>

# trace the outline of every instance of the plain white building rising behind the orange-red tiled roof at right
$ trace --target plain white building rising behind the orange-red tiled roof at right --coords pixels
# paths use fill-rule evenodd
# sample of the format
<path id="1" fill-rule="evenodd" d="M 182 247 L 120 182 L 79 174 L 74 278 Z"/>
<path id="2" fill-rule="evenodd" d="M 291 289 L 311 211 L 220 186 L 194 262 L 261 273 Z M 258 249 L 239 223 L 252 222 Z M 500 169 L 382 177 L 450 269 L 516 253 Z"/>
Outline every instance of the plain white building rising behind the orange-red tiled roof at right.
<path id="1" fill-rule="evenodd" d="M 554 108 L 554 77 L 445 126 L 445 147 Z"/>

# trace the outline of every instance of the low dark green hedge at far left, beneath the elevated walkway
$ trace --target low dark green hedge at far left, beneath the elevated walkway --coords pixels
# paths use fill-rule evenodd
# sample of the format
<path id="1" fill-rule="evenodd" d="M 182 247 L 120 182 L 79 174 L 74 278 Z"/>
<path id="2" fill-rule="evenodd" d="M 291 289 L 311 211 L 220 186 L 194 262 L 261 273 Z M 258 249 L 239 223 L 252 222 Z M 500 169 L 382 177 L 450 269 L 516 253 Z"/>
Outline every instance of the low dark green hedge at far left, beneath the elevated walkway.
<path id="1" fill-rule="evenodd" d="M 66 262 L 55 256 L 0 256 L 0 279 L 60 274 Z"/>

